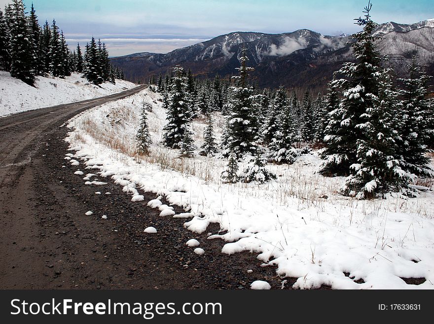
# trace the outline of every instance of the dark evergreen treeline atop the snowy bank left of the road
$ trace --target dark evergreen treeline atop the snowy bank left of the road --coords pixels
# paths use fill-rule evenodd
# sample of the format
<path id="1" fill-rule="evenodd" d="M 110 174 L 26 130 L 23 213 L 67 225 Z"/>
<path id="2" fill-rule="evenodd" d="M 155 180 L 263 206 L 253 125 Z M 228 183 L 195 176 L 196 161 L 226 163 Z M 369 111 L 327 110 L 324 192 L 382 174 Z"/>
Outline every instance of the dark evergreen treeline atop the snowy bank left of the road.
<path id="1" fill-rule="evenodd" d="M 76 50 L 68 48 L 55 20 L 40 26 L 33 3 L 29 14 L 25 10 L 22 0 L 12 0 L 4 13 L 0 10 L 0 70 L 30 85 L 37 75 L 64 78 L 72 72 L 83 73 L 95 84 L 123 79 L 123 72 L 110 64 L 109 52 L 100 40 L 92 37 L 83 56 L 79 44 Z"/>

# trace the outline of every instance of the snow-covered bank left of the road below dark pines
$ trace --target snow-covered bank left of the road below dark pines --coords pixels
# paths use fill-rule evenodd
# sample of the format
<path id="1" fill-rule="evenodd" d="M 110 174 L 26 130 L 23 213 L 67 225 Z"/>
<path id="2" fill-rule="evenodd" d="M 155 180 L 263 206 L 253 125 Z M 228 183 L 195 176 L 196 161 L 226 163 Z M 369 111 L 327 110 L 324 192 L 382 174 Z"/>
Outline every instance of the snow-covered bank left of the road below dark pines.
<path id="1" fill-rule="evenodd" d="M 116 80 L 98 87 L 73 73 L 61 79 L 58 77 L 36 77 L 36 87 L 0 71 L 0 117 L 26 110 L 51 107 L 74 101 L 107 96 L 112 93 L 134 88 L 134 83 Z"/>

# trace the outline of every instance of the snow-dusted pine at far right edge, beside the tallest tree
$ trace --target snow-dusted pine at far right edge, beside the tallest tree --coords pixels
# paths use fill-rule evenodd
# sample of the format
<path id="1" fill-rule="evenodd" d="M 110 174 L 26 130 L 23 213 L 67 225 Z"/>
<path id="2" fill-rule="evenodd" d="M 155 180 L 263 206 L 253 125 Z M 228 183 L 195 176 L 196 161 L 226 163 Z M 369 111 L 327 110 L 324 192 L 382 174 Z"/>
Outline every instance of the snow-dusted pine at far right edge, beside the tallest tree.
<path id="1" fill-rule="evenodd" d="M 411 65 L 407 66 L 408 77 L 402 78 L 404 89 L 401 108 L 398 111 L 402 120 L 399 130 L 399 150 L 402 157 L 402 168 L 416 175 L 433 175 L 427 164 L 430 159 L 426 156 L 430 133 L 434 128 L 434 118 L 427 98 L 427 82 L 429 76 L 413 56 Z"/>

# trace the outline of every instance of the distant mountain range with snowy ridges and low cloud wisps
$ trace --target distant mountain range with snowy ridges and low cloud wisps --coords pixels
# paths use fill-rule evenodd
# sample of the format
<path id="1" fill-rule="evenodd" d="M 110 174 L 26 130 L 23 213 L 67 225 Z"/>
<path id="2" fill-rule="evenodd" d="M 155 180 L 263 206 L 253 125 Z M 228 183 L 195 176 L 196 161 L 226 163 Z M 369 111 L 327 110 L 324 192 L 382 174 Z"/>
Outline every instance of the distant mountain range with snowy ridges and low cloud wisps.
<path id="1" fill-rule="evenodd" d="M 434 74 L 434 19 L 411 25 L 381 24 L 374 35 L 382 36 L 377 45 L 398 76 L 405 73 L 414 53 L 427 72 Z M 306 29 L 284 34 L 235 32 L 167 54 L 136 53 L 112 58 L 111 62 L 122 68 L 130 81 L 147 82 L 152 75 L 165 74 L 175 65 L 189 68 L 195 75 L 230 76 L 236 74 L 240 51 L 246 47 L 249 66 L 255 68 L 252 77 L 259 86 L 321 91 L 332 73 L 352 60 L 350 42 L 348 35 L 323 36 Z"/>

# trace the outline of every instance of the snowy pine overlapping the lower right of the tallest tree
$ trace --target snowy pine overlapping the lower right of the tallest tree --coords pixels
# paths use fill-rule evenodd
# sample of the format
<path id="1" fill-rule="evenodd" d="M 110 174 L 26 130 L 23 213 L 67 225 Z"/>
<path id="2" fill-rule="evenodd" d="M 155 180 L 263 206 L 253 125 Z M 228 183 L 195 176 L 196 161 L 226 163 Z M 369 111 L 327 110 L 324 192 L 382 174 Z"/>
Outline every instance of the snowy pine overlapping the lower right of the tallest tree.
<path id="1" fill-rule="evenodd" d="M 357 163 L 346 180 L 344 193 L 358 199 L 372 199 L 388 192 L 399 192 L 411 175 L 400 168 L 396 143 L 396 92 L 389 71 L 376 73 L 378 94 L 366 109 L 365 121 L 357 125 L 364 137 L 357 141 Z M 404 192 L 405 193 L 405 192 Z"/>

